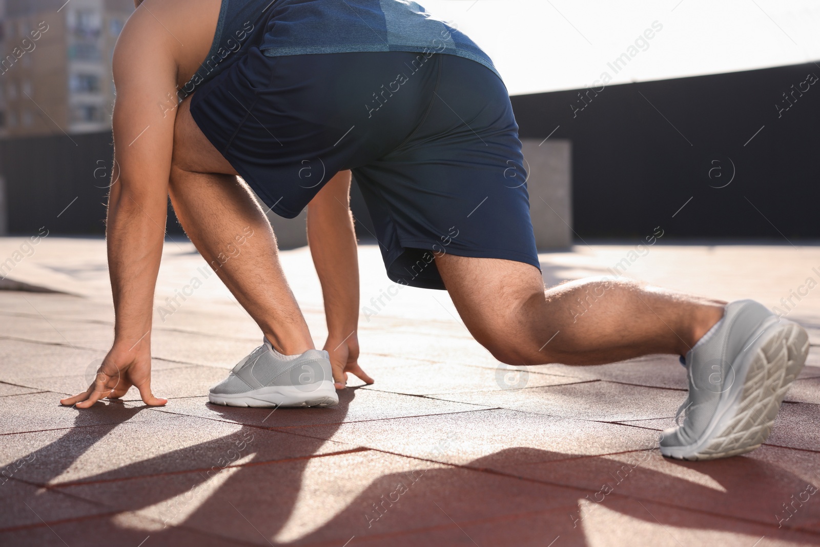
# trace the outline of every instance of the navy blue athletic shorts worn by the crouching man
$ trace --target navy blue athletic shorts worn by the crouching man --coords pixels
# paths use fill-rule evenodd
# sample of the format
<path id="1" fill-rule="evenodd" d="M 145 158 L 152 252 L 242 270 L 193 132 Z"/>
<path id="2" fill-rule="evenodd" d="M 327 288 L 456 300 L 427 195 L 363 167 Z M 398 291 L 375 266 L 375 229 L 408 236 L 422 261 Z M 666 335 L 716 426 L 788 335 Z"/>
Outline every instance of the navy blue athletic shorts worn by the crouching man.
<path id="1" fill-rule="evenodd" d="M 194 93 L 190 112 L 282 217 L 353 170 L 395 282 L 444 289 L 442 253 L 540 267 L 518 125 L 503 82 L 480 63 L 251 47 Z"/>

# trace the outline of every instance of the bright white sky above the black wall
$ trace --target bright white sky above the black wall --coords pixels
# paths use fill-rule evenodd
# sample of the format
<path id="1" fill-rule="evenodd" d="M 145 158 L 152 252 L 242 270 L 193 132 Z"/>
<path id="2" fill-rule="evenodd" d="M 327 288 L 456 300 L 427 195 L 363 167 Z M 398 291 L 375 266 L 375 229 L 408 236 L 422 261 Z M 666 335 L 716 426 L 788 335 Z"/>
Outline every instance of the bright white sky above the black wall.
<path id="1" fill-rule="evenodd" d="M 493 59 L 511 94 L 818 62 L 818 0 L 417 0 Z M 652 23 L 649 47 L 608 67 Z M 820 66 L 816 74 L 820 75 Z M 738 89 L 738 93 L 742 93 Z"/>

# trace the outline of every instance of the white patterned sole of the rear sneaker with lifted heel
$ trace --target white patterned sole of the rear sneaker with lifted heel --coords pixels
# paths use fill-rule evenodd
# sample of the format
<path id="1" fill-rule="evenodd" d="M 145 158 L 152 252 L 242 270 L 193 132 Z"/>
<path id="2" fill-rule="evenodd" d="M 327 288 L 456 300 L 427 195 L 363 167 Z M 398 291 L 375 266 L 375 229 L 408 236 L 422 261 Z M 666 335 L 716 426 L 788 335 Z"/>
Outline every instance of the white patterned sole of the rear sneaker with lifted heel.
<path id="1" fill-rule="evenodd" d="M 809 335 L 784 320 L 758 336 L 749 354 L 741 356 L 748 365 L 740 362 L 735 369 L 745 368 L 745 376 L 718 405 L 704 435 L 688 446 L 662 446 L 661 454 L 687 460 L 728 458 L 750 452 L 768 438 L 786 391 L 809 355 Z"/>

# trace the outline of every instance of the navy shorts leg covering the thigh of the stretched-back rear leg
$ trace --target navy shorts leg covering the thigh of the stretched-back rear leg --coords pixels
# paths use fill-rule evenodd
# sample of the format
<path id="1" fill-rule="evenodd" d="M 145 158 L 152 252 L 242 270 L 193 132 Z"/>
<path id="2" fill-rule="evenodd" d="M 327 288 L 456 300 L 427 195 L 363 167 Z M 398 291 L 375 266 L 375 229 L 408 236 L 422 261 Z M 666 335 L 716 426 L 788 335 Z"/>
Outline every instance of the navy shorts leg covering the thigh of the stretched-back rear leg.
<path id="1" fill-rule="evenodd" d="M 442 251 L 537 268 L 521 141 L 507 90 L 477 62 L 437 57 L 440 81 L 417 130 L 393 152 L 353 170 L 388 276 L 444 289 L 437 269 L 427 266 Z"/>

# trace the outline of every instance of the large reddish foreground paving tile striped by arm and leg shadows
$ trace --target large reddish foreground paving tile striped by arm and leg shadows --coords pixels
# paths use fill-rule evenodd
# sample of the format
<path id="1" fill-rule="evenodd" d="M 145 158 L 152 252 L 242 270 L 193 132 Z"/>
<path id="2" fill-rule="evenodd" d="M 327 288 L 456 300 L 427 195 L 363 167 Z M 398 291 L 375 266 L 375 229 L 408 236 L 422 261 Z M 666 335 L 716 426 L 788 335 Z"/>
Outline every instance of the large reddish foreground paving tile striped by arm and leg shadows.
<path id="1" fill-rule="evenodd" d="M 189 529 L 246 541 L 259 540 L 261 533 L 271 542 L 295 545 L 342 545 L 351 536 L 450 526 L 451 518 L 471 522 L 553 508 L 568 512 L 582 496 L 572 488 L 373 451 L 245 467 L 214 490 L 204 485 L 200 495 L 195 485 L 202 483 L 190 474 L 128 481 L 128 496 L 116 484 L 65 490 L 144 517 L 171 517 Z"/>

